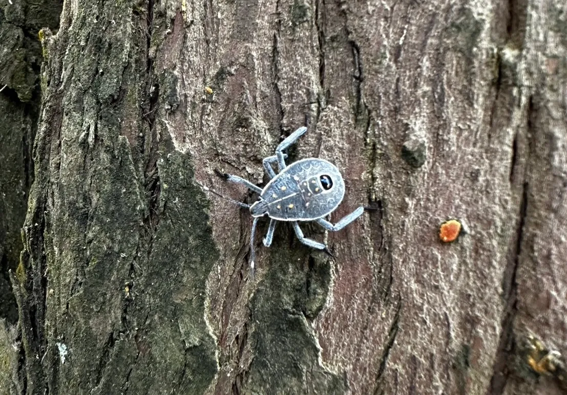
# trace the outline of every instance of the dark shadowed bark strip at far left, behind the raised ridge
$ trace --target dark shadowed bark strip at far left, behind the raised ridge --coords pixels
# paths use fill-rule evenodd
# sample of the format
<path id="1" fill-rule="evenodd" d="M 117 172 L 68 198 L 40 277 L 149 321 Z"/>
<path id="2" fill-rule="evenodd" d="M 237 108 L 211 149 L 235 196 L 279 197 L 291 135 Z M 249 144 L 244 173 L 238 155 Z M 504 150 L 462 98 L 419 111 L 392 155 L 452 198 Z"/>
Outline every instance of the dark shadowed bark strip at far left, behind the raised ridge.
<path id="1" fill-rule="evenodd" d="M 8 271 L 18 266 L 21 229 L 33 181 L 32 147 L 40 107 L 37 32 L 56 28 L 62 1 L 0 7 L 0 319 L 18 320 Z"/>

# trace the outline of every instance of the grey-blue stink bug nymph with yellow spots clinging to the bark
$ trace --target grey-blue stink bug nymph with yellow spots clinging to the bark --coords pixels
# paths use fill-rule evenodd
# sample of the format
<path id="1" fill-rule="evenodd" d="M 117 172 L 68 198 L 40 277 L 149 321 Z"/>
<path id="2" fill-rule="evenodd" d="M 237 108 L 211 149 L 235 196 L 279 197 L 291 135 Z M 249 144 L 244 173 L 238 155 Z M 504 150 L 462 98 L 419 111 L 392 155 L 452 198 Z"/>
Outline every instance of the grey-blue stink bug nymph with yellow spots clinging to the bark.
<path id="1" fill-rule="evenodd" d="M 304 237 L 299 222 L 315 221 L 327 230 L 337 231 L 356 220 L 364 211 L 364 207 L 361 206 L 336 224 L 325 220 L 325 217 L 335 211 L 344 198 L 345 182 L 336 166 L 323 159 L 306 158 L 286 165 L 287 155 L 284 150 L 294 144 L 305 132 L 307 128 L 300 127 L 278 145 L 274 156 L 264 158 L 264 170 L 270 177 L 264 188 L 236 175 L 217 171 L 217 174 L 228 181 L 244 185 L 260 194 L 259 199 L 252 205 L 232 200 L 240 207 L 248 208 L 254 218 L 250 237 L 252 274 L 255 264 L 254 237 L 259 218 L 264 216 L 270 218 L 268 231 L 263 240 L 265 247 L 272 244 L 276 222 L 287 221 L 293 225 L 299 241 L 306 246 L 328 252 L 324 243 Z M 277 174 L 273 164 L 278 165 Z"/>

